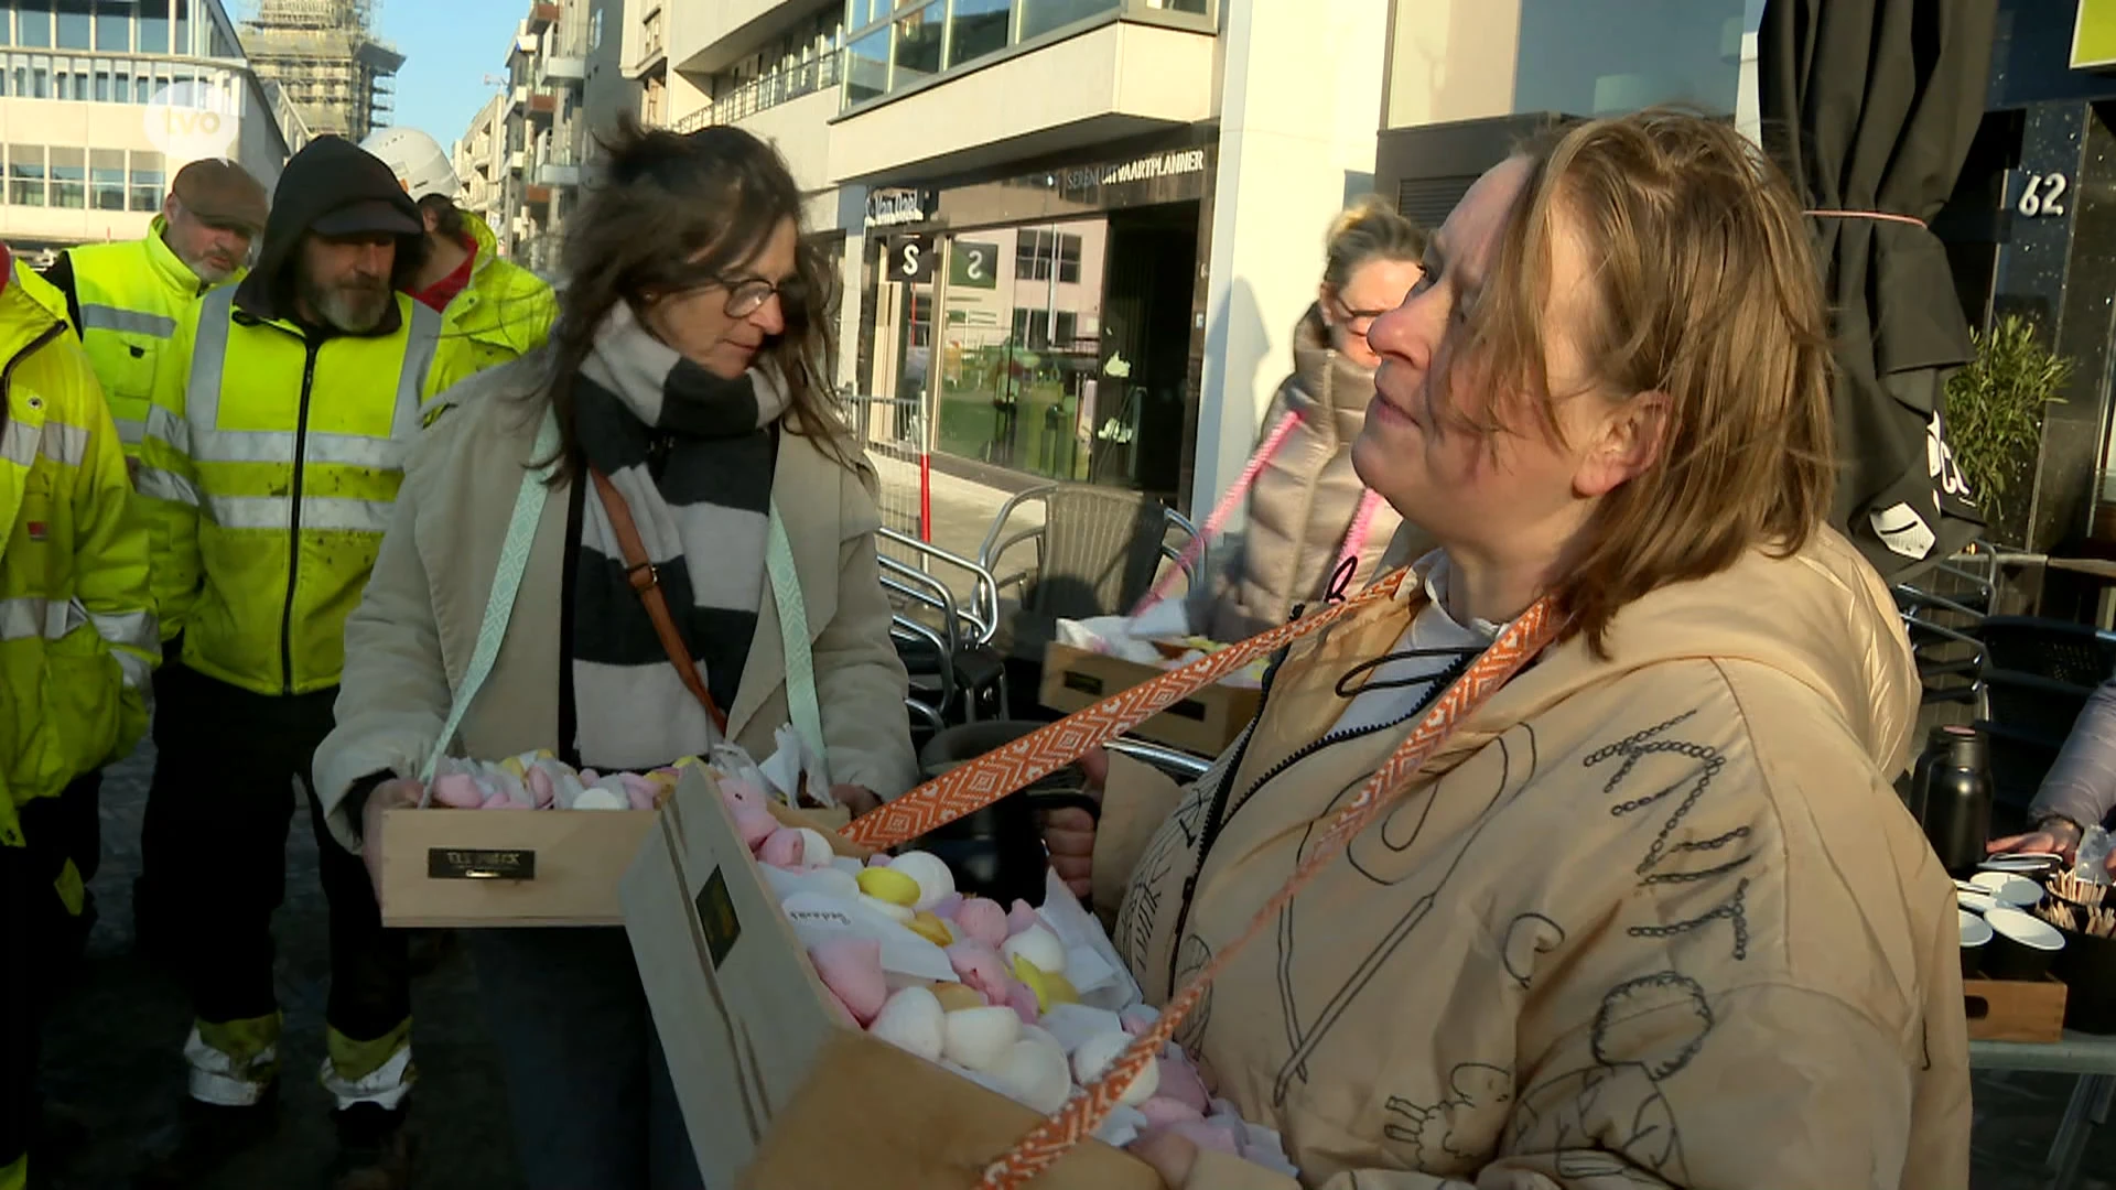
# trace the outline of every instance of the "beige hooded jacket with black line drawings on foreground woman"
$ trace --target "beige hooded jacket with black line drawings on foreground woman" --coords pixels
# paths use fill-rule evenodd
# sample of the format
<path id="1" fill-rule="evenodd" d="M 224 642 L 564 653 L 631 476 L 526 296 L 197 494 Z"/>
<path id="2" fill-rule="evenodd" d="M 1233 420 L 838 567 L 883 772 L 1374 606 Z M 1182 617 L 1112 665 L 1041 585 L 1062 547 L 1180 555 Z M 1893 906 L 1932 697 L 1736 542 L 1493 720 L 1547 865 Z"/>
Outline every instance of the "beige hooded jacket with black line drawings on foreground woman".
<path id="1" fill-rule="evenodd" d="M 1293 646 L 1198 786 L 1113 760 L 1096 904 L 1151 1002 L 1407 733 L 1327 737 L 1422 599 Z M 1955 898 L 1892 790 L 1917 680 L 1881 580 L 1824 534 L 1608 648 L 1471 716 L 1179 1040 L 1312 1188 L 1964 1190 Z M 1185 1190 L 1291 1186 L 1208 1152 Z"/>

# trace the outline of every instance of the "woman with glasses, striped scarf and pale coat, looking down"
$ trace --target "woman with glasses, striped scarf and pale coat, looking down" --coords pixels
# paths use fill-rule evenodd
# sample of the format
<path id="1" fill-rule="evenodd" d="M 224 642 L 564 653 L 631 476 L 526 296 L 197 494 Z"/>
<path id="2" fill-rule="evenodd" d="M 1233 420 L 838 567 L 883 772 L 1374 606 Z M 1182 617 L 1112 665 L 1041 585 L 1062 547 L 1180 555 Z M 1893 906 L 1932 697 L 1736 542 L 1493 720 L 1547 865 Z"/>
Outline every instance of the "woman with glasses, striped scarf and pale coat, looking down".
<path id="1" fill-rule="evenodd" d="M 375 841 L 383 807 L 417 805 L 516 498 L 544 464 L 512 618 L 453 754 L 552 750 L 641 771 L 728 739 L 764 760 L 806 703 L 787 673 L 808 669 L 842 803 L 872 809 L 918 775 L 874 472 L 819 375 L 832 282 L 802 241 L 800 188 L 770 146 L 730 127 L 626 123 L 607 150 L 605 182 L 567 227 L 550 343 L 453 390 L 347 620 L 315 790 L 351 849 Z M 798 591 L 785 570 L 768 576 L 779 527 Z M 783 639 L 794 599 L 806 659 Z M 664 646 L 664 627 L 679 639 Z M 470 951 L 527 1184 L 700 1186 L 624 932 L 478 930 Z"/>

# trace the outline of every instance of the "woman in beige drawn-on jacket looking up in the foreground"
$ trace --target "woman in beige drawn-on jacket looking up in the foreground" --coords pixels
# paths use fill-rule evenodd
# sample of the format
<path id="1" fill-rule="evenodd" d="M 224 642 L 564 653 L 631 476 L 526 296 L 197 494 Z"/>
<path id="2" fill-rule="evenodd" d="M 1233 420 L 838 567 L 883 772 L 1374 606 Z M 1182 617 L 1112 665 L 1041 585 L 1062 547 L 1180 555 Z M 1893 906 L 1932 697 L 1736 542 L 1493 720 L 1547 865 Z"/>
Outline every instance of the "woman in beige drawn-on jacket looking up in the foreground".
<path id="1" fill-rule="evenodd" d="M 1890 786 L 1917 680 L 1822 525 L 1826 335 L 1790 186 L 1731 127 L 1598 121 L 1498 165 L 1369 335 L 1354 462 L 1441 548 L 1293 644 L 1206 779 L 1090 764 L 1060 875 L 1149 999 L 1246 940 L 1176 1038 L 1301 1186 L 1968 1186 L 1953 887 Z M 1295 1184 L 1196 1139 L 1138 1152 L 1176 1188 Z"/>

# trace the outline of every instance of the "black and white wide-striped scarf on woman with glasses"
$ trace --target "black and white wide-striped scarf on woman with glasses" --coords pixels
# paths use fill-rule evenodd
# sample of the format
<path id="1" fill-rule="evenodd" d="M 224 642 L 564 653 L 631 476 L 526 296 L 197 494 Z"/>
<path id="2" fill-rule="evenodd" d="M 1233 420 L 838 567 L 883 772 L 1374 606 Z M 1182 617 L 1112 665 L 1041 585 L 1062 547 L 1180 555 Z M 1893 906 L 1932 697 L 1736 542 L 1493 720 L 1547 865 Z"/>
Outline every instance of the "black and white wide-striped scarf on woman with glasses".
<path id="1" fill-rule="evenodd" d="M 616 485 L 660 572 L 669 614 L 728 711 L 758 631 L 764 546 L 787 409 L 777 373 L 728 381 L 647 332 L 631 307 L 595 337 L 573 381 L 586 464 Z M 573 747 L 595 769 L 643 769 L 719 739 L 626 580 L 624 551 L 582 476 L 573 576 Z"/>

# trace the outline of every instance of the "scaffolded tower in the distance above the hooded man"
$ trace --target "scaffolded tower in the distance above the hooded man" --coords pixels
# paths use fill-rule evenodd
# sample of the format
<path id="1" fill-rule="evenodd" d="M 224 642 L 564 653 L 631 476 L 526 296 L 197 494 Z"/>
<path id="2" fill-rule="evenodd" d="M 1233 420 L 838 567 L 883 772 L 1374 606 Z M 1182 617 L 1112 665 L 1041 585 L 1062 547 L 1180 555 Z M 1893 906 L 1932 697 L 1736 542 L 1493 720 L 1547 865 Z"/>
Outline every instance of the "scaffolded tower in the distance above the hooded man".
<path id="1" fill-rule="evenodd" d="M 243 55 L 279 83 L 309 131 L 366 140 L 391 123 L 391 78 L 404 55 L 375 36 L 381 0 L 256 0 Z"/>

